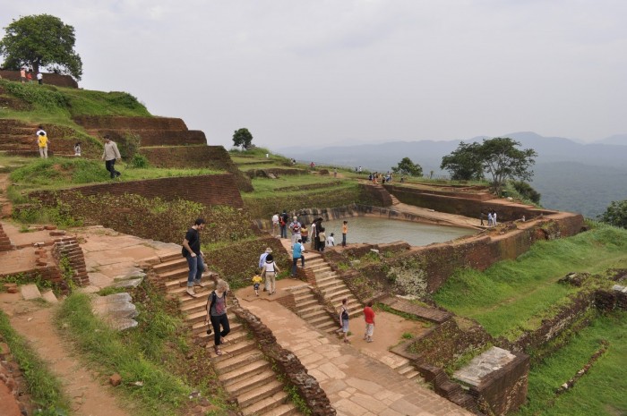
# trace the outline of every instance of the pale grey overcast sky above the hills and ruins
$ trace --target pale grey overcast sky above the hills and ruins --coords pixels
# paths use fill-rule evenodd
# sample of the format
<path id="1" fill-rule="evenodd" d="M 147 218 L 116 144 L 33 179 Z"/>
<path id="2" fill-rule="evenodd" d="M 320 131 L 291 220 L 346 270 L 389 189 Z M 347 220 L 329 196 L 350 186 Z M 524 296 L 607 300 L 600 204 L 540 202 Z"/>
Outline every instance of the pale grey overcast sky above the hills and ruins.
<path id="1" fill-rule="evenodd" d="M 627 132 L 624 0 L 2 0 L 76 30 L 84 89 L 124 90 L 209 144 Z M 2 32 L 4 35 L 4 31 Z"/>

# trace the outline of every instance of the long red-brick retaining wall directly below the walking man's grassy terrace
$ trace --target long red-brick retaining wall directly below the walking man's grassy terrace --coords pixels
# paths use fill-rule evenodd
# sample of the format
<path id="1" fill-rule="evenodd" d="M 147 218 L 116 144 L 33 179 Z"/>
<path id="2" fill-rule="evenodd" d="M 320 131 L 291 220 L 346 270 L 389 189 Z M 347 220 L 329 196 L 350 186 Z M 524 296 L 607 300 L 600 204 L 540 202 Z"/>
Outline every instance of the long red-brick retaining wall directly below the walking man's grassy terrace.
<path id="1" fill-rule="evenodd" d="M 244 201 L 239 194 L 236 178 L 233 174 L 206 174 L 201 176 L 185 176 L 176 178 L 146 179 L 117 183 L 100 183 L 81 186 L 64 191 L 34 191 L 29 198 L 40 200 L 47 205 L 56 204 L 56 196 L 70 198 L 72 192 L 84 196 L 98 196 L 102 193 L 124 195 L 125 193 L 141 195 L 144 198 L 161 200 L 192 200 L 207 207 L 228 205 L 244 208 Z M 115 207 L 111 207 L 112 215 L 116 215 Z"/>

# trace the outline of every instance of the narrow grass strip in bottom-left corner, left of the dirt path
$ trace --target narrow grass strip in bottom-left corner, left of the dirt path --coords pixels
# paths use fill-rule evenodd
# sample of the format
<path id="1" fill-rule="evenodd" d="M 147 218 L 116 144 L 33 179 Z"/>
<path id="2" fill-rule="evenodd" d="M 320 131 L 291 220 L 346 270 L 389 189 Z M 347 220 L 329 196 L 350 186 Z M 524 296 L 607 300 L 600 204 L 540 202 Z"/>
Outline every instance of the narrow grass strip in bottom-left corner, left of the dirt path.
<path id="1" fill-rule="evenodd" d="M 20 366 L 32 401 L 42 409 L 39 414 L 43 416 L 68 414 L 70 402 L 64 395 L 60 381 L 47 368 L 46 363 L 33 352 L 26 340 L 15 332 L 9 318 L 2 311 L 0 311 L 0 334 Z"/>

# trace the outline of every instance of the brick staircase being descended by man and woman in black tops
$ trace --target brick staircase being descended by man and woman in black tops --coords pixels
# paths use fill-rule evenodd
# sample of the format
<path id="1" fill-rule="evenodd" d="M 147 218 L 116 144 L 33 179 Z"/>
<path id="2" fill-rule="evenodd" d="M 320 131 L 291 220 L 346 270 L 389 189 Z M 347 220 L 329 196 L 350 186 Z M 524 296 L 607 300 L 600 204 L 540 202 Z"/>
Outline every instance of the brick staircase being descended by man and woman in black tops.
<path id="1" fill-rule="evenodd" d="M 189 296 L 185 290 L 187 285 L 187 261 L 180 253 L 162 258 L 162 262 L 153 267 L 159 275 L 159 281 L 166 286 L 170 296 L 178 297 L 180 308 L 185 314 L 185 321 L 191 328 L 193 336 L 207 342 L 207 350 L 211 352 L 211 361 L 218 370 L 219 380 L 230 395 L 237 398 L 240 409 L 245 416 L 288 416 L 300 415 L 294 403 L 288 401 L 284 385 L 277 379 L 269 361 L 257 347 L 248 331 L 237 322 L 233 313 L 228 314 L 231 327 L 227 342 L 222 344 L 222 355 L 213 353 L 213 334 L 207 335 L 205 325 L 205 307 L 210 294 L 210 282 L 206 287 L 196 287 L 198 297 Z M 233 308 L 232 299 L 229 307 Z M 209 354 L 208 354 L 209 355 Z"/>

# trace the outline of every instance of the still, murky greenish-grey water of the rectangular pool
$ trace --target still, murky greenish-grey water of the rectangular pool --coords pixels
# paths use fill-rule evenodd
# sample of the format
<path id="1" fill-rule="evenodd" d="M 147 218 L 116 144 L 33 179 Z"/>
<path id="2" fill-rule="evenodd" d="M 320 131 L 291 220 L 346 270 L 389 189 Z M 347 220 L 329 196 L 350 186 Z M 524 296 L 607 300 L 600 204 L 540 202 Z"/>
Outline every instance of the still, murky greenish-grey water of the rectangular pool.
<path id="1" fill-rule="evenodd" d="M 342 221 L 334 219 L 322 221 L 327 236 L 335 234 L 335 244 L 342 242 Z M 462 235 L 471 235 L 475 230 L 445 225 L 427 225 L 376 218 L 370 216 L 353 216 L 347 219 L 347 242 L 408 242 L 410 245 L 423 246 L 432 242 L 449 242 Z"/>

